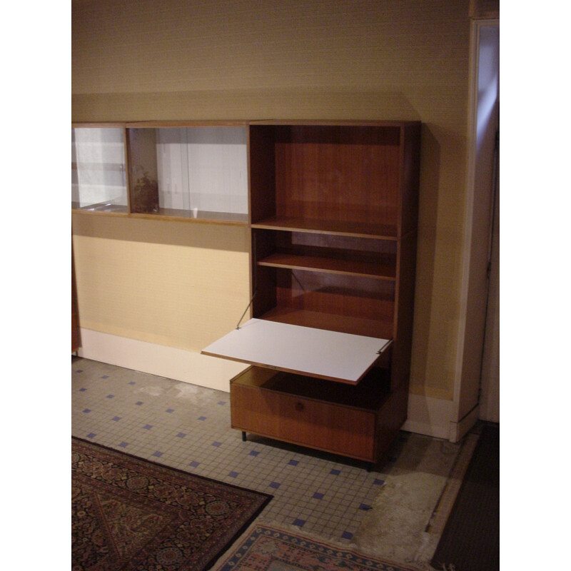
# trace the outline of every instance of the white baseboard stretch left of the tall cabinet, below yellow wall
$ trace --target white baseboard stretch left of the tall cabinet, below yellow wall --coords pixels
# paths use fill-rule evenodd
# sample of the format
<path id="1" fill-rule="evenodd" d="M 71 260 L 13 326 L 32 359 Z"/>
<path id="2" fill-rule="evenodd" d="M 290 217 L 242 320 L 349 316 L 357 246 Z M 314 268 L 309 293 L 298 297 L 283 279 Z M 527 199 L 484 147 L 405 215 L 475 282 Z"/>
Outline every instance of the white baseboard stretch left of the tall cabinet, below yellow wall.
<path id="1" fill-rule="evenodd" d="M 230 391 L 230 380 L 248 367 L 193 351 L 83 328 L 78 355 L 226 393 Z"/>

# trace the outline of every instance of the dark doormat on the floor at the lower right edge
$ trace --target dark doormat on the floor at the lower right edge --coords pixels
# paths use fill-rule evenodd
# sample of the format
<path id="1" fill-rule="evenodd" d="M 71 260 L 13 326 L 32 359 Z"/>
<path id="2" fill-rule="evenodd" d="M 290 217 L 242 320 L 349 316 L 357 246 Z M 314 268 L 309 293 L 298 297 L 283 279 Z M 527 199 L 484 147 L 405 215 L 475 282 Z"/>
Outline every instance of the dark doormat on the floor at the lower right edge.
<path id="1" fill-rule="evenodd" d="M 444 532 L 435 569 L 500 569 L 500 426 L 486 423 Z"/>

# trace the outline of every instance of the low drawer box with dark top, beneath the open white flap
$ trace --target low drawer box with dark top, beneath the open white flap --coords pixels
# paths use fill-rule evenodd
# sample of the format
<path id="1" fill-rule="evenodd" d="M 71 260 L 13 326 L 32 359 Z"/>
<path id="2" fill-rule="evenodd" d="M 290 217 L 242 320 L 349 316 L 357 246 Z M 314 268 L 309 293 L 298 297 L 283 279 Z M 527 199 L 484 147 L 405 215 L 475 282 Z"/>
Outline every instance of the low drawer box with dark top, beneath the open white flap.
<path id="1" fill-rule="evenodd" d="M 377 388 L 377 397 L 370 399 L 365 385 L 340 387 L 252 367 L 231 382 L 232 427 L 373 462 L 378 402 L 384 390 Z"/>

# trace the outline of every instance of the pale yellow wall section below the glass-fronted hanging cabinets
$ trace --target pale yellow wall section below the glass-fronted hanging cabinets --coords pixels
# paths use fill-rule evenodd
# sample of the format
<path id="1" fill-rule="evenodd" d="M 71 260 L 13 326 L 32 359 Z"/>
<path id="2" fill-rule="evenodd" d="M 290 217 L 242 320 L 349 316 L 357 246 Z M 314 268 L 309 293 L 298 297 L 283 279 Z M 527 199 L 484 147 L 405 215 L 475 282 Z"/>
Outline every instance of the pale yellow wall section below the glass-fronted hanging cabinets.
<path id="1" fill-rule="evenodd" d="M 82 328 L 200 351 L 236 327 L 249 301 L 245 228 L 215 230 L 208 243 L 201 224 L 85 215 L 75 221 Z M 156 225 L 143 241 L 139 231 Z M 131 236 L 120 238 L 117 226 Z M 178 240 L 153 241 L 163 226 Z M 97 229 L 103 237 L 93 236 Z"/>

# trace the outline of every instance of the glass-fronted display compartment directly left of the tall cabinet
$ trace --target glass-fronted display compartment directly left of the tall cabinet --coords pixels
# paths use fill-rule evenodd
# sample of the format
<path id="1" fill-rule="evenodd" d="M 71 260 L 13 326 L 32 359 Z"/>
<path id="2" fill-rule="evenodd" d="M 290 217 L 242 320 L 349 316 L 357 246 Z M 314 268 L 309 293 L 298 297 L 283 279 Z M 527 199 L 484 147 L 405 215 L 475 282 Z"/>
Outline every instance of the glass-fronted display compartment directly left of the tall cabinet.
<path id="1" fill-rule="evenodd" d="M 126 130 L 131 212 L 248 221 L 246 126 L 150 125 Z"/>

